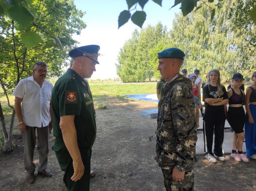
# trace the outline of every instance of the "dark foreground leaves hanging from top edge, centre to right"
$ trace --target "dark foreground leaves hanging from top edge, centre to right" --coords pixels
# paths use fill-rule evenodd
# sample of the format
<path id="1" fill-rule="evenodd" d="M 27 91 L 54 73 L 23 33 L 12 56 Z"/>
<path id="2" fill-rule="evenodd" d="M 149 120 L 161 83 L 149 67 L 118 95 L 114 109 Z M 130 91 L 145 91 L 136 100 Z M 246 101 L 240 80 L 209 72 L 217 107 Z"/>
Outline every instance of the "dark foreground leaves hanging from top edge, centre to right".
<path id="1" fill-rule="evenodd" d="M 146 12 L 144 12 L 143 9 L 148 1 L 149 0 L 126 0 L 128 10 L 124 10 L 120 13 L 118 17 L 118 28 L 120 28 L 122 25 L 127 23 L 130 18 L 134 24 L 142 28 L 143 23 L 146 20 Z M 162 0 L 152 0 L 152 1 L 162 6 Z M 226 0 L 215 0 L 215 1 L 214 0 L 208 0 L 208 1 L 206 0 L 175 0 L 174 5 L 172 7 L 180 5 L 182 15 L 186 16 L 189 13 L 191 13 L 193 10 L 197 11 L 201 7 L 207 6 L 208 8 L 210 8 L 209 11 L 211 12 L 210 19 L 213 20 L 216 9 L 215 7 L 212 7 L 212 5 L 214 3 L 225 3 L 225 1 Z M 141 7 L 142 11 L 137 10 L 138 5 Z M 255 0 L 237 0 L 237 2 L 234 2 L 234 5 L 236 5 L 236 8 L 231 9 L 231 12 L 233 12 L 232 14 L 238 17 L 237 19 L 238 25 L 242 25 L 244 23 L 248 24 L 249 22 L 252 22 L 252 21 L 256 23 Z M 135 12 L 132 15 L 131 12 L 134 10 Z M 241 16 L 243 17 L 242 20 L 240 20 Z"/>

